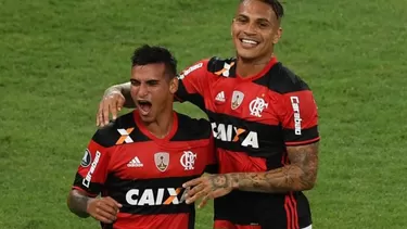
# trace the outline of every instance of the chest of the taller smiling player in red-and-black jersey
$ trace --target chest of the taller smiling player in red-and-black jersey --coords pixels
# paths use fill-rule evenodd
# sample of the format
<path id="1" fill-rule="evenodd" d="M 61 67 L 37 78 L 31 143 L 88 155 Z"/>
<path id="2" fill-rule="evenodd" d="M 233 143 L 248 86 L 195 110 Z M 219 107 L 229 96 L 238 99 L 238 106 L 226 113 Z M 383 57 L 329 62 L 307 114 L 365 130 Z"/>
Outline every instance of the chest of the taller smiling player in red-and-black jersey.
<path id="1" fill-rule="evenodd" d="M 219 77 L 205 100 L 216 143 L 258 154 L 281 143 L 279 96 L 252 81 Z"/>

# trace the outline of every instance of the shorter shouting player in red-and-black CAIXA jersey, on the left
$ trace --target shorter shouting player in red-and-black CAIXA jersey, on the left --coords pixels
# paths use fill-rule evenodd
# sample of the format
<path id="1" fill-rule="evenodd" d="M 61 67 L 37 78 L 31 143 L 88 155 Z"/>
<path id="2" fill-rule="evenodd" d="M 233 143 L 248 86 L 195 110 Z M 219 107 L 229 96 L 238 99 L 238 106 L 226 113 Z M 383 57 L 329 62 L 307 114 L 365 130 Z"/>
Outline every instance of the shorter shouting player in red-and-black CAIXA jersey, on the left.
<path id="1" fill-rule="evenodd" d="M 103 229 L 193 229 L 182 183 L 215 163 L 211 125 L 173 111 L 176 60 L 160 47 L 132 56 L 137 110 L 99 129 L 78 167 L 67 204 Z M 101 194 L 101 198 L 97 198 Z"/>

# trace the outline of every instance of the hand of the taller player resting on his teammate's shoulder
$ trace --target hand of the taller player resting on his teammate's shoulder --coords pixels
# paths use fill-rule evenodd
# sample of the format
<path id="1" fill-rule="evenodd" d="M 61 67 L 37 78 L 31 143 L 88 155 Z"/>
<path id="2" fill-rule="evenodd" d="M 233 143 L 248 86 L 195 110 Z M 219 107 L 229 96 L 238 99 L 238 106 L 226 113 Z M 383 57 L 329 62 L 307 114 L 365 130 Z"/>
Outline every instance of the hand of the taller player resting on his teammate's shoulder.
<path id="1" fill-rule="evenodd" d="M 97 126 L 103 127 L 109 124 L 109 114 L 112 118 L 117 118 L 117 113 L 125 104 L 125 97 L 120 91 L 107 92 L 99 103 L 99 111 L 97 114 Z"/>

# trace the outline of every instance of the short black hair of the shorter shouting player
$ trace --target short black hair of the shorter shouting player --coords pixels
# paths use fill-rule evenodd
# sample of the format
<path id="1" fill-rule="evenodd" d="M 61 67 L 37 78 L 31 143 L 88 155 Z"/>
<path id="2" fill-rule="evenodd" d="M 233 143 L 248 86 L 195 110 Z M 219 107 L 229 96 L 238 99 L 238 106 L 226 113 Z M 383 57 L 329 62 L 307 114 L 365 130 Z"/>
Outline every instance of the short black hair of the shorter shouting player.
<path id="1" fill-rule="evenodd" d="M 177 60 L 164 47 L 143 44 L 137 48 L 131 56 L 131 66 L 158 63 L 165 64 L 165 71 L 169 78 L 177 75 Z"/>

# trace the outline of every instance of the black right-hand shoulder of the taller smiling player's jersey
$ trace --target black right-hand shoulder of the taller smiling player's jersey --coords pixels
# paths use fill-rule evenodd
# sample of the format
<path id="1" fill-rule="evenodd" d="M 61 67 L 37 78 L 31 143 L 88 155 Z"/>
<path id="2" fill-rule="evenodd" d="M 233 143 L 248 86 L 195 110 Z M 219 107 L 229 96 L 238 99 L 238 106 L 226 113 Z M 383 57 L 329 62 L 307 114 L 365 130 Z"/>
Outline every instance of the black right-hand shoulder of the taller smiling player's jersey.
<path id="1" fill-rule="evenodd" d="M 309 86 L 294 72 L 278 62 L 269 71 L 268 88 L 278 93 L 310 90 Z"/>

